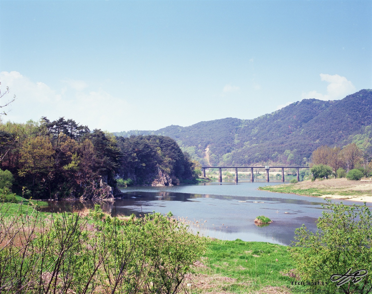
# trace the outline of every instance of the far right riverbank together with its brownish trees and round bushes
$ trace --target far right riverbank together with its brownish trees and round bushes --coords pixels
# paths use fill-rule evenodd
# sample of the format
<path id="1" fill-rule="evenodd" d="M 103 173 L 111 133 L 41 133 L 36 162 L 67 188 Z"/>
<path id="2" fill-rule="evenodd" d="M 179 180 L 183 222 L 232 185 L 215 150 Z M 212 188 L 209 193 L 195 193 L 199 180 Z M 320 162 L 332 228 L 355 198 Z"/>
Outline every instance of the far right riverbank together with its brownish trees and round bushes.
<path id="1" fill-rule="evenodd" d="M 311 181 L 309 179 L 298 183 L 297 180 L 291 180 L 291 184 L 265 186 L 259 189 L 304 196 L 353 198 L 353 200 L 371 197 L 371 184 L 368 181 L 359 181 L 361 178 L 372 176 L 372 163 L 362 155 L 362 150 L 355 143 L 344 146 L 343 149 L 320 146 L 311 155 L 312 176 L 308 173 Z M 346 173 L 344 168 L 351 170 Z"/>

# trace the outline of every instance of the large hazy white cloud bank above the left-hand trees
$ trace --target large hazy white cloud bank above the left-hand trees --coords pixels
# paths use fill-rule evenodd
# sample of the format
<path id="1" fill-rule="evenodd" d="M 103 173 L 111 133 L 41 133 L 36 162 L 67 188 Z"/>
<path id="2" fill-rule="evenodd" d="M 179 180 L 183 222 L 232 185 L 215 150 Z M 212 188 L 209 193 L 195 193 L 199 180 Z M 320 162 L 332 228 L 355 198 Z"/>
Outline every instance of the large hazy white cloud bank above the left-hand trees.
<path id="1" fill-rule="evenodd" d="M 120 129 L 124 120 L 135 119 L 126 111 L 130 108 L 135 113 L 134 105 L 113 97 L 102 88 L 90 89 L 84 81 L 65 80 L 62 81 L 62 89 L 55 90 L 16 71 L 1 72 L 0 78 L 1 88 L 9 86 L 10 95 L 16 95 L 12 111 L 2 117 L 3 121 L 22 123 L 29 119 L 39 120 L 42 116 L 50 120 L 63 116 L 90 129 L 113 131 Z"/>

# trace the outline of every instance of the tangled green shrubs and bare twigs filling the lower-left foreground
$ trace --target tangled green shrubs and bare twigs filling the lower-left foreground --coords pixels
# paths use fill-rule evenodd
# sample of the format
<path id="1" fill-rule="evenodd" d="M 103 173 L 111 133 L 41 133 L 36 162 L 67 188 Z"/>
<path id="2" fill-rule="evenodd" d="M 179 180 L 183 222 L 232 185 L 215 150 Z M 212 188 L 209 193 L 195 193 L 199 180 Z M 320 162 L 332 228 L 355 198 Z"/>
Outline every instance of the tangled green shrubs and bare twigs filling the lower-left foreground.
<path id="1" fill-rule="evenodd" d="M 40 214 L 1 206 L 1 293 L 177 293 L 205 240 L 171 214 L 111 218 L 99 205 Z"/>

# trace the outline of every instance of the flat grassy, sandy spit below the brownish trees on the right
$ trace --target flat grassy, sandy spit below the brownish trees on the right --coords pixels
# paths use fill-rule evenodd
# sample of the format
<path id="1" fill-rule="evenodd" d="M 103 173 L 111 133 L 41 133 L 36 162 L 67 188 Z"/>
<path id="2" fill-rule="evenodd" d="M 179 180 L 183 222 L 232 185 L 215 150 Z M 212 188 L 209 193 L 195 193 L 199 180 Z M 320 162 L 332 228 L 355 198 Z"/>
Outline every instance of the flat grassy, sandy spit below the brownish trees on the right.
<path id="1" fill-rule="evenodd" d="M 372 202 L 372 182 L 351 181 L 346 178 L 302 181 L 296 184 L 282 184 L 259 187 L 259 190 L 289 193 L 311 197 L 325 197 L 359 202 Z"/>

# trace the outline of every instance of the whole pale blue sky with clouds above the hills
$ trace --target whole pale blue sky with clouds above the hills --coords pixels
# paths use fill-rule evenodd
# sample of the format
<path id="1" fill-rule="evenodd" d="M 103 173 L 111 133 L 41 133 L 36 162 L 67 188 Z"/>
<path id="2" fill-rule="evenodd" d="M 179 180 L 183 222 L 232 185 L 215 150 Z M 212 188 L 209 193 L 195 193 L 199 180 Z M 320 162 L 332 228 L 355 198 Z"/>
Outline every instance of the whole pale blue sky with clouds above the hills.
<path id="1" fill-rule="evenodd" d="M 372 88 L 372 1 L 1 0 L 0 42 L 3 121 L 155 130 Z"/>

